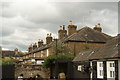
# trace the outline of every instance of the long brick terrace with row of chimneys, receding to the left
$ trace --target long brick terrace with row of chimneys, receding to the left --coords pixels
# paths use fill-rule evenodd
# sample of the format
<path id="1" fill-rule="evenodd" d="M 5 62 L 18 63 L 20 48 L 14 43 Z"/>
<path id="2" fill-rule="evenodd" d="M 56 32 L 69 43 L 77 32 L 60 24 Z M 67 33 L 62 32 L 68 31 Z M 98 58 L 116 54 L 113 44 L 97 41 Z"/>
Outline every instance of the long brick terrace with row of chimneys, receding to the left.
<path id="1" fill-rule="evenodd" d="M 46 44 L 43 44 L 43 40 L 39 40 L 38 44 L 30 45 L 28 47 L 29 52 L 22 57 L 22 62 L 41 64 L 44 62 L 44 58 L 56 55 L 56 53 L 53 53 L 52 45 L 64 43 L 69 49 L 67 53 L 76 56 L 81 51 L 103 46 L 111 38 L 111 36 L 102 32 L 100 24 L 95 25 L 93 29 L 83 27 L 77 30 L 77 26 L 70 21 L 68 30 L 65 29 L 65 25 L 60 26 L 58 39 L 53 39 L 50 33 L 47 34 Z"/>

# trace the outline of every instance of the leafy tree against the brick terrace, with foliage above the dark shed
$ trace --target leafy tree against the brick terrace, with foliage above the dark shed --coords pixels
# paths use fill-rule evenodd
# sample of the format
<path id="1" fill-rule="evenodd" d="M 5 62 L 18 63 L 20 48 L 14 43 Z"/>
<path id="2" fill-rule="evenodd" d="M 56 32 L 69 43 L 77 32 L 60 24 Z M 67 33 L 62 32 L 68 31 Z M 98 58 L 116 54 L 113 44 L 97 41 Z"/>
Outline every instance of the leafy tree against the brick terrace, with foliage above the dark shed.
<path id="1" fill-rule="evenodd" d="M 48 56 L 44 60 L 43 66 L 49 68 L 56 59 L 73 59 L 72 51 L 62 42 L 57 42 L 52 45 L 52 52 L 55 55 Z"/>

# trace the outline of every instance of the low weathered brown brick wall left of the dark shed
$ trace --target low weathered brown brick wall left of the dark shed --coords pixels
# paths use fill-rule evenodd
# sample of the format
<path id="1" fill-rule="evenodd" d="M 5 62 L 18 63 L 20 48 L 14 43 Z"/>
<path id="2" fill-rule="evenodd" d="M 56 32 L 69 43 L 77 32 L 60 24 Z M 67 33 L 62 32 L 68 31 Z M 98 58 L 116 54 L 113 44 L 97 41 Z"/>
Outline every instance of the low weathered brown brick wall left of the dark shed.
<path id="1" fill-rule="evenodd" d="M 49 69 L 45 69 L 40 65 L 15 65 L 15 78 L 20 74 L 23 74 L 24 78 L 28 78 L 30 73 L 40 74 L 42 78 L 49 77 Z"/>

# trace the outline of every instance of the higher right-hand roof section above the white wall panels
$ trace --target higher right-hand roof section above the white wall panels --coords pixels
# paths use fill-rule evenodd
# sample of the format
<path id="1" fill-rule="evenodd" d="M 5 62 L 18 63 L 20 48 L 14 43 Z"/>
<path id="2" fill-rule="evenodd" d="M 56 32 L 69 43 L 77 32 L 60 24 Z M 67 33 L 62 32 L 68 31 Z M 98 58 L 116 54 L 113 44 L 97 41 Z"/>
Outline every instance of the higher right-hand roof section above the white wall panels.
<path id="1" fill-rule="evenodd" d="M 99 49 L 99 51 L 94 54 L 91 59 L 107 59 L 107 58 L 118 58 L 120 57 L 120 37 L 115 37 L 114 39 L 107 42 L 105 46 Z"/>

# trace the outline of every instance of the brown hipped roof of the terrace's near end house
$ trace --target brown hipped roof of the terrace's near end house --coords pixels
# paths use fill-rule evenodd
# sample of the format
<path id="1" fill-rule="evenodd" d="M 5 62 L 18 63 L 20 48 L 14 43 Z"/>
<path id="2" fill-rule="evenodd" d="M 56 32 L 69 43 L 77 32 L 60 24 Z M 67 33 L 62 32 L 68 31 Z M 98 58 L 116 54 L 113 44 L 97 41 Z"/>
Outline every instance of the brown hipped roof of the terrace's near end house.
<path id="1" fill-rule="evenodd" d="M 81 42 L 106 42 L 112 38 L 111 36 L 98 32 L 89 27 L 84 27 L 78 30 L 76 33 L 70 35 L 65 41 L 81 41 Z"/>

